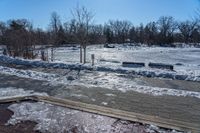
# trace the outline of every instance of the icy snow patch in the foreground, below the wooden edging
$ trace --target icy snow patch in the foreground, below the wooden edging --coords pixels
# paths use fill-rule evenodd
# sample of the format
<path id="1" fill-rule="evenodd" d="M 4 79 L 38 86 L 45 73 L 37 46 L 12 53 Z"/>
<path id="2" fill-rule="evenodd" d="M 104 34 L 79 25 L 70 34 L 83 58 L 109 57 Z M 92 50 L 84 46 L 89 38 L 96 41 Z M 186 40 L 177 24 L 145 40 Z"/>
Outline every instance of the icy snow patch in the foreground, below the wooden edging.
<path id="1" fill-rule="evenodd" d="M 77 111 L 51 104 L 36 103 L 16 103 L 8 107 L 14 115 L 7 124 L 17 124 L 21 121 L 35 121 L 38 124 L 35 130 L 43 133 L 179 133 L 178 131 L 162 129 L 151 125 L 122 121 L 107 116 Z"/>

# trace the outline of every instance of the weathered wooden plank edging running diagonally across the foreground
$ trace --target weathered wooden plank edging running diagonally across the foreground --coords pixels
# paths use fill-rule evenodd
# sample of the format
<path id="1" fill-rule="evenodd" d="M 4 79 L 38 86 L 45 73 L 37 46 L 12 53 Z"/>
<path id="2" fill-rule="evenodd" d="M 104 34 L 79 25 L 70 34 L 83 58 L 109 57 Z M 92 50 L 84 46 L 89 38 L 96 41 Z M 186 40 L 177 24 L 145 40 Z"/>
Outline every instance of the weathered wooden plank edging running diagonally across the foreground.
<path id="1" fill-rule="evenodd" d="M 200 124 L 186 123 L 172 119 L 164 119 L 156 116 L 128 112 L 109 107 L 97 106 L 93 104 L 86 104 L 82 102 L 56 98 L 52 96 L 34 95 L 34 96 L 11 97 L 11 98 L 0 99 L 0 103 L 18 102 L 25 100 L 45 102 L 89 113 L 95 113 L 99 115 L 139 122 L 143 124 L 153 124 L 164 128 L 176 129 L 179 131 L 186 131 L 186 132 L 191 131 L 192 133 L 200 133 Z"/>

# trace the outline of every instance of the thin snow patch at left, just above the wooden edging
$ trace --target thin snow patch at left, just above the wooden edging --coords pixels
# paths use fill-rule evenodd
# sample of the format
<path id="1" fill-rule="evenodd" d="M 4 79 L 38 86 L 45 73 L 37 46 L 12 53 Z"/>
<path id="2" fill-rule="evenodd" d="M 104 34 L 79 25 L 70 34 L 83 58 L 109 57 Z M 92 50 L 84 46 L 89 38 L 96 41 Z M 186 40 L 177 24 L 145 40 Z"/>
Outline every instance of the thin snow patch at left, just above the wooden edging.
<path id="1" fill-rule="evenodd" d="M 12 98 L 12 97 L 19 97 L 19 96 L 47 96 L 46 93 L 37 93 L 33 90 L 24 90 L 22 88 L 15 88 L 15 87 L 7 87 L 7 88 L 0 88 L 0 99 Z"/>

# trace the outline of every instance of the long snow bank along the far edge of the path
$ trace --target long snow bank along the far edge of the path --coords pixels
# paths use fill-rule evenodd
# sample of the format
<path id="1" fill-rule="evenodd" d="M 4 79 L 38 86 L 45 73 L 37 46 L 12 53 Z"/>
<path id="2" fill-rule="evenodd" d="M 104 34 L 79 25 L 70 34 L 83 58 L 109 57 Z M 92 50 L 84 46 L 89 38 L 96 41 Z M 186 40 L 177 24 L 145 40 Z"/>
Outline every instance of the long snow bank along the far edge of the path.
<path id="1" fill-rule="evenodd" d="M 138 69 L 138 68 L 105 67 L 105 66 L 92 67 L 83 64 L 47 63 L 42 61 L 22 60 L 7 56 L 0 56 L 0 62 L 16 64 L 16 65 L 25 65 L 31 67 L 60 68 L 60 69 L 72 69 L 72 70 L 94 70 L 101 72 L 115 72 L 123 74 L 141 75 L 145 77 L 159 77 L 159 78 L 169 78 L 169 79 L 188 80 L 188 81 L 200 81 L 200 73 L 188 73 L 186 71 L 175 72 L 175 71 L 166 71 L 166 70 L 149 69 L 149 68 Z"/>

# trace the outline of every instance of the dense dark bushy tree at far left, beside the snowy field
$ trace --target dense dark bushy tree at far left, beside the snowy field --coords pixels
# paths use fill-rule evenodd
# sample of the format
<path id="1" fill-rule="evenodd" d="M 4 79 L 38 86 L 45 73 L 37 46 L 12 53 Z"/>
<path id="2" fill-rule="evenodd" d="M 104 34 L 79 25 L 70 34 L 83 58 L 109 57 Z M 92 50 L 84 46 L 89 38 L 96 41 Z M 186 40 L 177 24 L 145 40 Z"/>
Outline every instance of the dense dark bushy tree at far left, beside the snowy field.
<path id="1" fill-rule="evenodd" d="M 32 58 L 32 55 L 28 55 L 34 44 L 32 24 L 26 19 L 17 19 L 8 21 L 8 25 L 4 43 L 7 45 L 10 55 L 15 57 L 26 54 L 26 57 Z"/>

